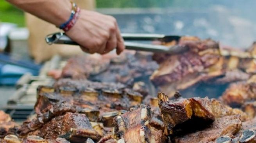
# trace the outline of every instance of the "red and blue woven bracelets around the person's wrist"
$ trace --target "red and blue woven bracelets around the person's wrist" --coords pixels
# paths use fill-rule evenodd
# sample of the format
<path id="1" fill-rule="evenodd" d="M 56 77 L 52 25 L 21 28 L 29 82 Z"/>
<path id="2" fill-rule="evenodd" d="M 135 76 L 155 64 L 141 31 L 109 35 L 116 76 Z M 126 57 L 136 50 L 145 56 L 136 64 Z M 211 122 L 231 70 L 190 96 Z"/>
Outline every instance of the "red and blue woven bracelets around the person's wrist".
<path id="1" fill-rule="evenodd" d="M 70 30 L 75 25 L 80 14 L 79 7 L 77 7 L 77 5 L 74 2 L 71 2 L 71 3 L 72 3 L 72 11 L 71 11 L 70 18 L 68 19 L 68 21 L 66 21 L 65 23 L 61 24 L 61 26 L 59 26 L 59 28 L 64 30 L 65 32 Z"/>

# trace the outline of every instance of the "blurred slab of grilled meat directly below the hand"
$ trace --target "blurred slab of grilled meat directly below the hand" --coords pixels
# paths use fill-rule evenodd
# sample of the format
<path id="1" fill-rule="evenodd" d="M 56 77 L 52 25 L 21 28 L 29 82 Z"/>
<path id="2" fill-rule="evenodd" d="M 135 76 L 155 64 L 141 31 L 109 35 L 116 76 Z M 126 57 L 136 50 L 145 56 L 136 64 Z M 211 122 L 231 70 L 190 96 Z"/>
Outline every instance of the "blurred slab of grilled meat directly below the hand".
<path id="1" fill-rule="evenodd" d="M 151 55 L 140 53 L 96 59 L 91 56 L 77 56 L 68 60 L 63 68 L 62 78 L 129 84 L 136 78 L 151 75 L 157 68 L 158 65 L 152 61 Z"/>

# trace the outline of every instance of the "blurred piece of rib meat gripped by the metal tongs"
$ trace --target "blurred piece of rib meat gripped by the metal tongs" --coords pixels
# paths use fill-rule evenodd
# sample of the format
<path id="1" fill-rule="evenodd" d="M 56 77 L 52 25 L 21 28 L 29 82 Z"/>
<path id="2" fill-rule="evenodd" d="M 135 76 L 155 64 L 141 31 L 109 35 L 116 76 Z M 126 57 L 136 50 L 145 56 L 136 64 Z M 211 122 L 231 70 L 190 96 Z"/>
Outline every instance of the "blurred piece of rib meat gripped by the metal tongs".
<path id="1" fill-rule="evenodd" d="M 179 46 L 188 47 L 182 54 L 155 54 L 159 68 L 150 77 L 160 90 L 172 96 L 200 81 L 222 75 L 223 57 L 217 42 L 196 37 L 182 37 Z M 159 58 L 161 57 L 161 58 Z"/>

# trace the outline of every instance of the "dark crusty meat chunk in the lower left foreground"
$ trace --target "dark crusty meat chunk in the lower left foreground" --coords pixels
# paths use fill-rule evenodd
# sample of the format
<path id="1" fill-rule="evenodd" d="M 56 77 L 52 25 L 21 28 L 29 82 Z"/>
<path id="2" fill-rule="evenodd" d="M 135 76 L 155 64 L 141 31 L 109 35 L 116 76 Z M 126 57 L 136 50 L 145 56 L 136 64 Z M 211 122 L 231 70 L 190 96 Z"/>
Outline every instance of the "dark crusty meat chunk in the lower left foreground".
<path id="1" fill-rule="evenodd" d="M 47 115 L 44 115 L 47 116 Z M 91 138 L 100 140 L 101 136 L 95 131 L 86 115 L 66 112 L 63 115 L 54 115 L 48 120 L 38 117 L 35 120 L 24 122 L 18 131 L 21 137 L 36 135 L 44 139 L 66 138 L 72 142 L 79 142 Z"/>

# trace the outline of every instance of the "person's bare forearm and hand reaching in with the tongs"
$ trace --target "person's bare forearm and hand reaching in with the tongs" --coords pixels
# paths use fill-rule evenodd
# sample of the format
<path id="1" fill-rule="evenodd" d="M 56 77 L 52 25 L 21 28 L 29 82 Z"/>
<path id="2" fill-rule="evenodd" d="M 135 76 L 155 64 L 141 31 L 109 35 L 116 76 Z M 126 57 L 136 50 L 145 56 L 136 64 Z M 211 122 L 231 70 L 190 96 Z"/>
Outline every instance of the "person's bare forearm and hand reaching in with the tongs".
<path id="1" fill-rule="evenodd" d="M 69 0 L 7 1 L 57 27 L 68 20 L 72 7 Z M 98 12 L 81 10 L 79 19 L 66 34 L 89 53 L 105 54 L 116 48 L 120 54 L 125 48 L 116 19 Z"/>

